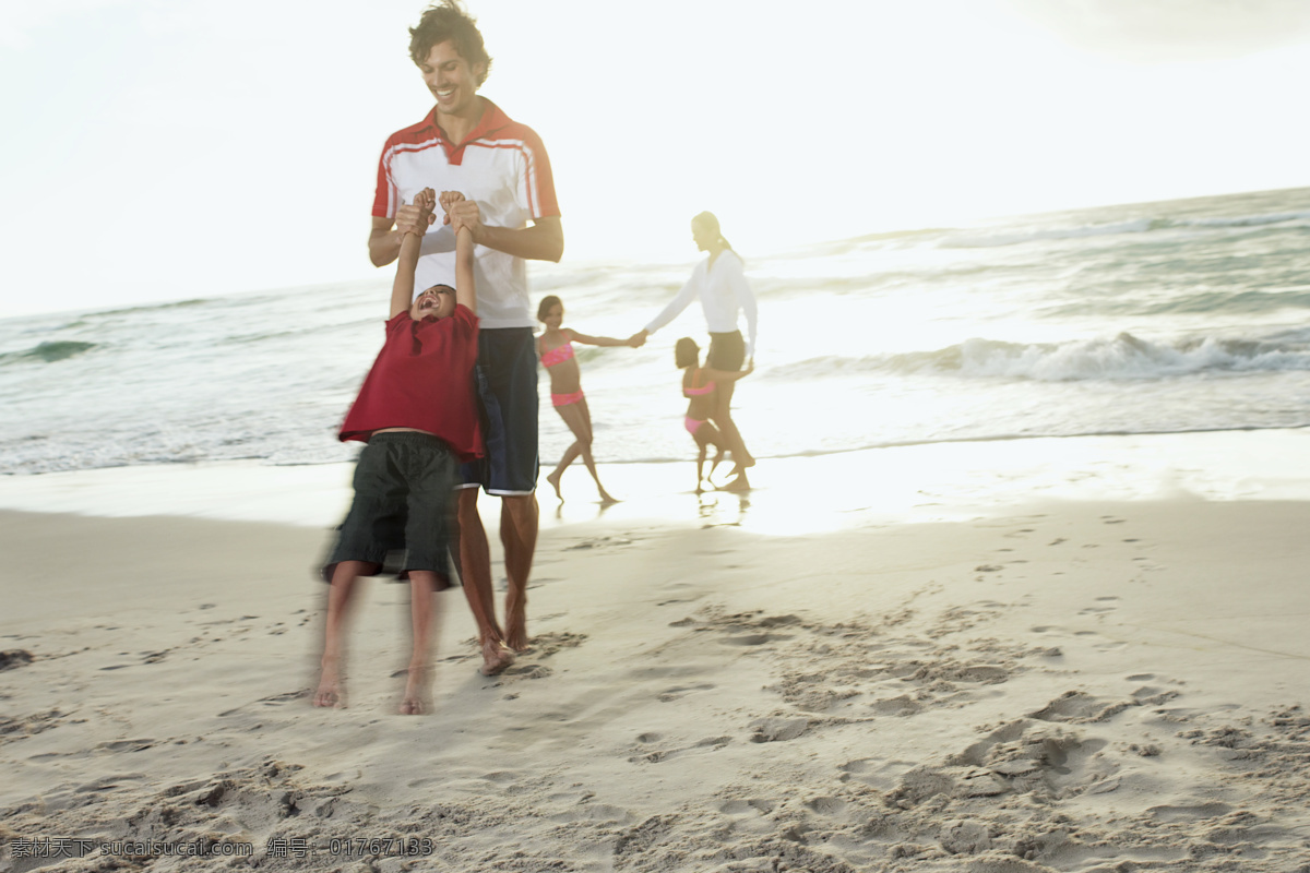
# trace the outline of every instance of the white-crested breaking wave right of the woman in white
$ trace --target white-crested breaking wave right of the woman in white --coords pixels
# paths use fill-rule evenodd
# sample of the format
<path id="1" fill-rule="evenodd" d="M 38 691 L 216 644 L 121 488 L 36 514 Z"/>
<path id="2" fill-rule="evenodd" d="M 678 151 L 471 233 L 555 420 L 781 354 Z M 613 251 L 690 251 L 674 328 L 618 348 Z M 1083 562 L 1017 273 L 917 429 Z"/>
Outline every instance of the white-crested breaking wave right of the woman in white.
<path id="1" fill-rule="evenodd" d="M 908 373 L 1073 382 L 1175 378 L 1197 373 L 1310 370 L 1310 348 L 1268 340 L 1192 338 L 1153 343 L 1132 334 L 1069 343 L 969 339 L 934 352 L 888 359 Z"/>

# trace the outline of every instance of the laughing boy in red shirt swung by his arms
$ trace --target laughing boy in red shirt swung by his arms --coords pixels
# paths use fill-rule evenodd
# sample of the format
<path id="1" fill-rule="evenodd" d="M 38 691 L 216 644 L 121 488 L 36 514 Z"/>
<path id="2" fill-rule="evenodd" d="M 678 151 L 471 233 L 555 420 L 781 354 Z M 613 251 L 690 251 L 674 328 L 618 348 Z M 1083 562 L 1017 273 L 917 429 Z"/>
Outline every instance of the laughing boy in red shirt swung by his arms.
<path id="1" fill-rule="evenodd" d="M 462 199 L 445 191 L 441 208 L 448 212 Z M 418 226 L 426 228 L 436 207 L 432 188 L 421 191 L 414 204 L 423 217 Z M 401 241 L 386 342 L 341 427 L 342 441 L 365 445 L 355 466 L 354 503 L 324 567 L 331 586 L 316 707 L 346 705 L 342 661 L 355 580 L 377 575 L 388 552 L 402 550 L 414 648 L 400 711 L 418 715 L 424 709 L 432 594 L 449 588 L 447 548 L 460 463 L 482 457 L 473 394 L 478 355 L 473 234 L 458 217 L 455 232 L 455 288 L 434 285 L 413 301 L 421 236 L 409 232 Z"/>

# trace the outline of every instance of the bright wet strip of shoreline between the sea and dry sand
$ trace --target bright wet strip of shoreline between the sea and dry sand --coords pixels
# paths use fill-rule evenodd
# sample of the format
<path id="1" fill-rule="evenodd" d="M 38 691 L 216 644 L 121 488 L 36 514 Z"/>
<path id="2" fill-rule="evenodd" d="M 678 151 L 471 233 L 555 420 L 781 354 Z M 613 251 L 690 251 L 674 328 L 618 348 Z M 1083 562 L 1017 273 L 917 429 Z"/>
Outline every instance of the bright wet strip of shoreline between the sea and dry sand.
<path id="1" fill-rule="evenodd" d="M 766 458 L 745 495 L 692 493 L 694 461 L 605 463 L 621 503 L 600 507 L 583 467 L 555 500 L 537 490 L 542 527 L 637 518 L 740 524 L 795 533 L 861 521 L 933 521 L 1032 499 L 1310 500 L 1310 428 L 1201 431 L 934 442 L 812 457 Z M 550 467 L 542 467 L 541 479 Z M 103 517 L 185 516 L 335 526 L 350 505 L 354 463 L 259 461 L 107 467 L 0 476 L 0 509 Z M 483 517 L 494 500 L 481 496 Z M 803 507 L 796 507 L 803 503 Z M 789 505 L 794 509 L 789 512 Z"/>

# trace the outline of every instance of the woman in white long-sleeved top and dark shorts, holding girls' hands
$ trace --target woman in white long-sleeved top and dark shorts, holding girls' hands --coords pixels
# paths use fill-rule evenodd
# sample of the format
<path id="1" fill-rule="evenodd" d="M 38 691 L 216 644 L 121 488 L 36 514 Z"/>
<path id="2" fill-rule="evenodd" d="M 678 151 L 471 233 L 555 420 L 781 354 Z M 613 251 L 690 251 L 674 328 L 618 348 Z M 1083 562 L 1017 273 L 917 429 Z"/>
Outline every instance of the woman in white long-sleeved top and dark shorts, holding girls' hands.
<path id="1" fill-rule="evenodd" d="M 709 253 L 709 258 L 696 264 L 692 277 L 669 301 L 668 306 L 645 327 L 633 335 L 637 344 L 646 336 L 664 327 L 690 305 L 693 298 L 701 300 L 705 323 L 710 330 L 710 352 L 706 365 L 717 370 L 740 370 L 747 361 L 755 360 L 756 305 L 755 294 L 745 280 L 741 257 L 723 238 L 719 220 L 710 212 L 702 212 L 692 219 L 692 240 L 696 247 Z M 745 315 L 747 339 L 743 340 L 738 322 Z M 751 487 L 745 475 L 747 467 L 755 466 L 755 458 L 745 448 L 745 441 L 732 421 L 732 389 L 735 382 L 724 382 L 718 390 L 718 406 L 714 423 L 723 432 L 736 463 L 736 478 L 724 486 L 726 490 L 743 491 Z"/>

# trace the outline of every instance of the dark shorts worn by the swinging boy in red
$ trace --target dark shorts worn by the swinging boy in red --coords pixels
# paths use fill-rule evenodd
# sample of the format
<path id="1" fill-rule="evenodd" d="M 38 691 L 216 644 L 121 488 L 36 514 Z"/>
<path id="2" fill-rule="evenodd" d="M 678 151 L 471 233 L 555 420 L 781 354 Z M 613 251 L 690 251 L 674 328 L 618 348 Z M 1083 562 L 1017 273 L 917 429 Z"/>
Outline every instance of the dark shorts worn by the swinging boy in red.
<path id="1" fill-rule="evenodd" d="M 449 588 L 448 552 L 455 530 L 458 462 L 445 441 L 427 433 L 375 433 L 355 465 L 355 500 L 339 527 L 337 547 L 324 567 L 331 581 L 337 564 L 371 564 L 364 576 L 392 565 L 438 573 Z"/>

